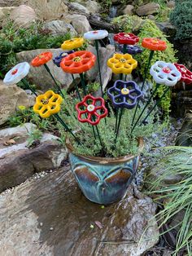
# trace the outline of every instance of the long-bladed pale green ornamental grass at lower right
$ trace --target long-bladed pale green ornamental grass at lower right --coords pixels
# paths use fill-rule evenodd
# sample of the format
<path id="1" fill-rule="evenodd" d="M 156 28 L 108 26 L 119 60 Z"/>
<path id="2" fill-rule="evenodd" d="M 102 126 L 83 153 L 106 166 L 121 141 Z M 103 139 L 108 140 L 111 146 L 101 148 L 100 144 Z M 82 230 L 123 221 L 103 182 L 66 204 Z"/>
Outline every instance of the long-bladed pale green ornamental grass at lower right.
<path id="1" fill-rule="evenodd" d="M 164 173 L 159 179 L 151 181 L 149 195 L 154 194 L 156 201 L 164 202 L 164 210 L 156 214 L 161 227 L 164 223 L 175 218 L 177 213 L 183 212 L 181 222 L 177 224 L 178 233 L 176 236 L 177 247 L 174 256 L 178 255 L 183 248 L 187 255 L 192 255 L 192 148 L 191 147 L 168 147 L 162 148 L 165 157 L 161 163 L 161 170 Z M 164 180 L 172 176 L 180 176 L 181 180 L 164 186 Z M 178 179 L 177 179 L 178 180 Z M 171 228 L 170 228 L 171 229 Z"/>

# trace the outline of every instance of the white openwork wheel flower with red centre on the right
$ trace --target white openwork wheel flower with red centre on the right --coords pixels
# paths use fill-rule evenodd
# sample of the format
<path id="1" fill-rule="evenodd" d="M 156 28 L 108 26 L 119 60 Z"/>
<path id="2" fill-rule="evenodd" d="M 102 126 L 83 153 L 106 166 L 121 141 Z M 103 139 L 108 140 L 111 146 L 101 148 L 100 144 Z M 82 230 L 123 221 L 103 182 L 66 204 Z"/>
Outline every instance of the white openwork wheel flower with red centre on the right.
<path id="1" fill-rule="evenodd" d="M 156 61 L 151 66 L 150 73 L 156 83 L 165 86 L 175 86 L 181 79 L 181 73 L 176 66 L 164 61 Z"/>

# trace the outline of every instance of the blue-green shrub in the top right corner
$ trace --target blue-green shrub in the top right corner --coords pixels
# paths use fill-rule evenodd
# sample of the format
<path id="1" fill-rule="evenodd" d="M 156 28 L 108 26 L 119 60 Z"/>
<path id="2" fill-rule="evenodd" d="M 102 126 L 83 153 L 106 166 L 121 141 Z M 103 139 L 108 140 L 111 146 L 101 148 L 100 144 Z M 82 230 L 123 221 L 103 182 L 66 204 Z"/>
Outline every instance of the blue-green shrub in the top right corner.
<path id="1" fill-rule="evenodd" d="M 176 7 L 170 15 L 170 21 L 177 28 L 177 39 L 192 38 L 192 2 L 191 0 L 175 1 Z"/>

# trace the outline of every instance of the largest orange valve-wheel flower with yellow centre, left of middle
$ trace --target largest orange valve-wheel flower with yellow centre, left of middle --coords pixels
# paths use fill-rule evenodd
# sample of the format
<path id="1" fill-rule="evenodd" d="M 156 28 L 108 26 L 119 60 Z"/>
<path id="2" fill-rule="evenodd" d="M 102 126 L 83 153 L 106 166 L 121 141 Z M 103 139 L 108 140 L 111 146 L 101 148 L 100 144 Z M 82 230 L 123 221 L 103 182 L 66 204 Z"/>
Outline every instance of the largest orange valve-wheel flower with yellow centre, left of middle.
<path id="1" fill-rule="evenodd" d="M 65 57 L 60 67 L 67 73 L 83 73 L 94 66 L 96 57 L 90 51 L 76 51 Z"/>

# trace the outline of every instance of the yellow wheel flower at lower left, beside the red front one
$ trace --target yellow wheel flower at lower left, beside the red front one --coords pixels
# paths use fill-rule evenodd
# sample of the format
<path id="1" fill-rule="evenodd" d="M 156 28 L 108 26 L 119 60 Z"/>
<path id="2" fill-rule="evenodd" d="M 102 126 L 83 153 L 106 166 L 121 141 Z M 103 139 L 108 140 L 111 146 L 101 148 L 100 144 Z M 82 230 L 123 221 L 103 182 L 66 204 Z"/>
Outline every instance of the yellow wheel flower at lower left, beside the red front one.
<path id="1" fill-rule="evenodd" d="M 53 114 L 59 113 L 60 104 L 63 99 L 60 95 L 55 94 L 53 90 L 47 90 L 44 95 L 38 95 L 33 111 L 42 118 L 48 118 Z"/>

